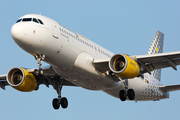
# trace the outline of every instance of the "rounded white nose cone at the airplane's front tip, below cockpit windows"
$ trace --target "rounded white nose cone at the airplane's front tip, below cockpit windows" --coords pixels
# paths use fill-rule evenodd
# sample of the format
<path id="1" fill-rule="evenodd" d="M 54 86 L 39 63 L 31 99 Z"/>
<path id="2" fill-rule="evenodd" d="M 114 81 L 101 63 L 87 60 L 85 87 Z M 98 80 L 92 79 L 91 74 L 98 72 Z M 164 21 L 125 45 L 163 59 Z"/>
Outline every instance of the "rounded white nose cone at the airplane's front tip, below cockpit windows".
<path id="1" fill-rule="evenodd" d="M 14 24 L 11 28 L 11 35 L 15 42 L 20 42 L 25 37 L 23 26 L 20 24 Z"/>

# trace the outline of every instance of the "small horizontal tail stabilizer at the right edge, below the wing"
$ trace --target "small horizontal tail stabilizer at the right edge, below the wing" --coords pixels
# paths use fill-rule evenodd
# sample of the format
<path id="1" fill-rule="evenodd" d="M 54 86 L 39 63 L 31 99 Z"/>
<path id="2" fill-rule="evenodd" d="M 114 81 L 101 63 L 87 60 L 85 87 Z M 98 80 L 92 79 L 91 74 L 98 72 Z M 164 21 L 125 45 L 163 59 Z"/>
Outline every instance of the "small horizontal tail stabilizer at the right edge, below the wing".
<path id="1" fill-rule="evenodd" d="M 180 90 L 180 85 L 160 86 L 159 89 L 164 92 L 171 92 L 171 91 Z"/>

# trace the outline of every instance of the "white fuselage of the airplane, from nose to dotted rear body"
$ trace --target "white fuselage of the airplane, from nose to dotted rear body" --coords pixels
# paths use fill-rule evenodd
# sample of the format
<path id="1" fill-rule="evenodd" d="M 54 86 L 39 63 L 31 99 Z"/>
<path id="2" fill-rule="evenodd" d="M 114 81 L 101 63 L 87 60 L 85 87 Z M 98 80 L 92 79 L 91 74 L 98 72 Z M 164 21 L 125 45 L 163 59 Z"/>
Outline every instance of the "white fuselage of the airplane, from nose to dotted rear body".
<path id="1" fill-rule="evenodd" d="M 41 15 L 25 15 L 21 18 L 41 19 L 44 24 L 33 21 L 18 22 L 11 34 L 15 42 L 31 55 L 45 55 L 45 62 L 66 80 L 89 90 L 103 90 L 119 98 L 124 84 L 112 76 L 101 73 L 93 65 L 94 59 L 110 59 L 112 52 L 67 29 L 56 21 Z M 135 91 L 135 101 L 159 100 L 169 97 L 159 91 L 160 82 L 146 73 L 144 78 L 128 79 L 128 88 Z"/>

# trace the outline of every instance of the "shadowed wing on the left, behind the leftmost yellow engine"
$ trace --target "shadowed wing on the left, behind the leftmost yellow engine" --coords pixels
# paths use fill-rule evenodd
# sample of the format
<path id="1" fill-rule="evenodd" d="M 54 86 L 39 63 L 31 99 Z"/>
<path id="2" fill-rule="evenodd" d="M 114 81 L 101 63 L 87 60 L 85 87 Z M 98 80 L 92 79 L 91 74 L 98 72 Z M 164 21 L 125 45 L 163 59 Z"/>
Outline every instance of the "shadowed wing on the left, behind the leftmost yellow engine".
<path id="1" fill-rule="evenodd" d="M 26 69 L 28 72 L 31 72 L 34 74 L 35 69 Z M 64 78 L 60 77 L 58 74 L 54 72 L 51 66 L 47 66 L 42 68 L 44 74 L 43 76 L 37 76 L 34 74 L 36 79 L 38 80 L 38 84 L 44 84 L 47 87 L 49 85 L 54 86 L 54 83 L 61 83 L 63 80 L 63 85 L 65 86 L 76 86 L 73 83 L 65 80 Z M 6 80 L 6 74 L 5 75 L 0 75 L 0 87 L 5 90 L 5 86 L 9 85 L 7 80 Z"/>

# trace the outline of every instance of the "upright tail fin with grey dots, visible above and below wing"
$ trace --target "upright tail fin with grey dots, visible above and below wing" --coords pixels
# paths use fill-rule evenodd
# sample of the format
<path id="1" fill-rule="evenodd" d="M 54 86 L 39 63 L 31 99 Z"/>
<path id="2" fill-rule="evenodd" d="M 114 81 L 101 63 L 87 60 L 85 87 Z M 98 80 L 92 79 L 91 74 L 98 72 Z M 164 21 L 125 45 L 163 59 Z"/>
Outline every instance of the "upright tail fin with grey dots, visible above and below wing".
<path id="1" fill-rule="evenodd" d="M 157 31 L 147 54 L 162 53 L 163 52 L 163 43 L 164 43 L 164 34 L 161 33 L 160 31 Z M 151 75 L 153 75 L 157 80 L 160 81 L 161 80 L 161 69 L 152 71 Z"/>

